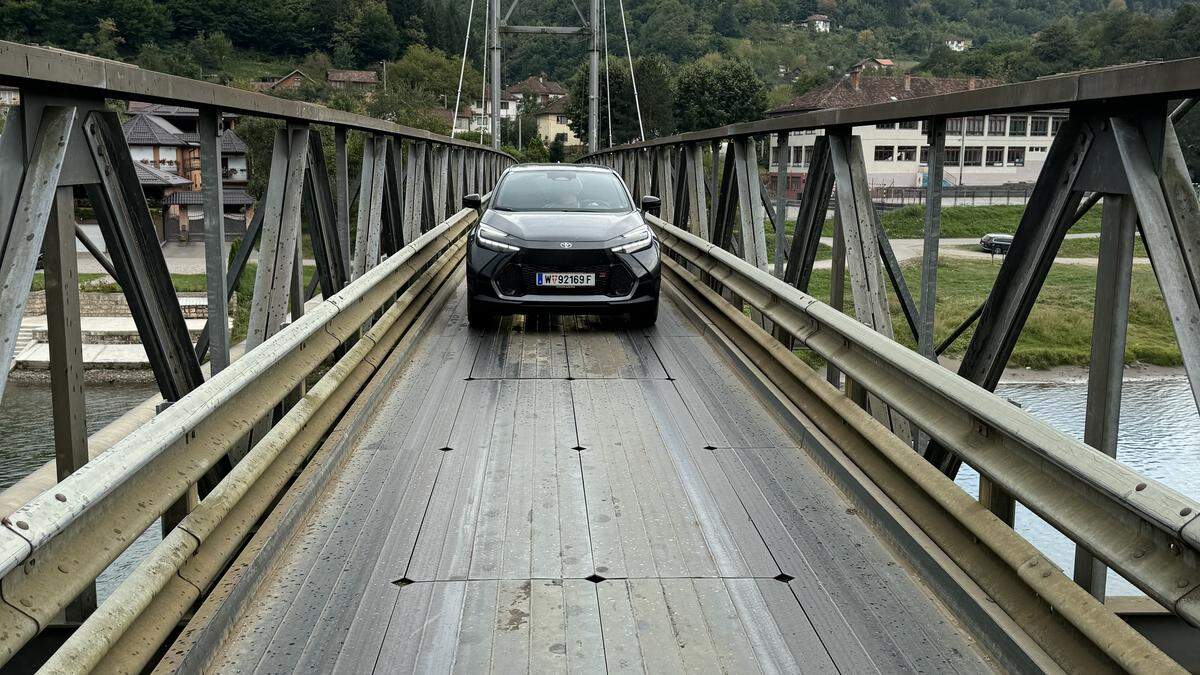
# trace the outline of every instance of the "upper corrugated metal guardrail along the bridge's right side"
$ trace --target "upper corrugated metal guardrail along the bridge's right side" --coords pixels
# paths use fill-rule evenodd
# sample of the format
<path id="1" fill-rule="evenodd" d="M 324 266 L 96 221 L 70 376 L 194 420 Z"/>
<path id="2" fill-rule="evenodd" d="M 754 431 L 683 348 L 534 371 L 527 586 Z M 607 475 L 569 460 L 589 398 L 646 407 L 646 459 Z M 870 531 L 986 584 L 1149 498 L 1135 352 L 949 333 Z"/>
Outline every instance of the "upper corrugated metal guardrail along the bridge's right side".
<path id="1" fill-rule="evenodd" d="M 1032 512 L 1200 626 L 1200 502 L 658 217 L 664 249 L 738 295 Z"/>

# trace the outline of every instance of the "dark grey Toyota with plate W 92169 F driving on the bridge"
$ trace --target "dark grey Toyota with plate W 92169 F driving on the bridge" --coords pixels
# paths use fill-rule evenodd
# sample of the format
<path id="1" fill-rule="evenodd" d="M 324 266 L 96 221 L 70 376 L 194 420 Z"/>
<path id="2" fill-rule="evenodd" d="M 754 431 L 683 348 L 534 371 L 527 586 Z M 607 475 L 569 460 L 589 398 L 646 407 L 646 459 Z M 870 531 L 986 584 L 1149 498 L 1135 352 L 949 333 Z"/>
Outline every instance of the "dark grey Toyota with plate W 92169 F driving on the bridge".
<path id="1" fill-rule="evenodd" d="M 505 171 L 468 234 L 467 315 L 624 313 L 637 325 L 659 312 L 659 241 L 624 181 L 606 167 L 521 165 Z M 481 209 L 479 195 L 463 205 Z"/>

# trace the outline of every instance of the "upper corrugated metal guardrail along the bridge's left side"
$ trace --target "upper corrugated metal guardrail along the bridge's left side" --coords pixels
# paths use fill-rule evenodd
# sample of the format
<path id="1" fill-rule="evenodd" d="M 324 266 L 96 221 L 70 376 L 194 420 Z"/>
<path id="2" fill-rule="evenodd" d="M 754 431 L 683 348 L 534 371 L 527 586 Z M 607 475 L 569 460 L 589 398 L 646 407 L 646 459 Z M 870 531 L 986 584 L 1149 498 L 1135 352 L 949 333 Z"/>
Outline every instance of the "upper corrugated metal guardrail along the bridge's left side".
<path id="1" fill-rule="evenodd" d="M 11 656 L 13 643 L 44 627 L 259 418 L 458 245 L 475 217 L 463 209 L 426 232 L 4 519 L 0 577 L 23 617 L 0 611 L 8 634 L 0 652 Z"/>

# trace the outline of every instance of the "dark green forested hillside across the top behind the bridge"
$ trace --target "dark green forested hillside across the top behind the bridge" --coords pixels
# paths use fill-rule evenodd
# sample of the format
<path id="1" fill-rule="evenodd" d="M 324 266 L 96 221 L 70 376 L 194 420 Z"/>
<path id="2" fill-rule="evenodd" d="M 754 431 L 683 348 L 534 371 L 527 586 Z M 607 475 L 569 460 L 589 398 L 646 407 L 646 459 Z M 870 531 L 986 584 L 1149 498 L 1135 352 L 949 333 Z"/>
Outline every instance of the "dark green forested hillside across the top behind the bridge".
<path id="1" fill-rule="evenodd" d="M 462 0 L 0 0 L 0 38 L 244 88 L 300 67 L 317 83 L 295 95 L 444 132 L 430 110 L 457 94 L 468 23 L 464 100 L 481 89 L 485 2 L 468 17 Z M 833 30 L 804 28 L 812 13 Z M 616 143 L 761 118 L 868 56 L 916 74 L 1018 82 L 1200 54 L 1200 4 L 1182 0 L 605 0 L 605 18 L 612 96 L 602 94 L 601 130 L 607 141 L 611 107 Z M 580 17 L 569 0 L 522 0 L 510 22 Z M 952 37 L 971 48 L 950 50 Z M 582 37 L 509 36 L 504 84 L 539 73 L 564 82 L 582 131 L 586 48 Z M 386 88 L 329 90 L 319 83 L 331 67 L 386 70 Z"/>

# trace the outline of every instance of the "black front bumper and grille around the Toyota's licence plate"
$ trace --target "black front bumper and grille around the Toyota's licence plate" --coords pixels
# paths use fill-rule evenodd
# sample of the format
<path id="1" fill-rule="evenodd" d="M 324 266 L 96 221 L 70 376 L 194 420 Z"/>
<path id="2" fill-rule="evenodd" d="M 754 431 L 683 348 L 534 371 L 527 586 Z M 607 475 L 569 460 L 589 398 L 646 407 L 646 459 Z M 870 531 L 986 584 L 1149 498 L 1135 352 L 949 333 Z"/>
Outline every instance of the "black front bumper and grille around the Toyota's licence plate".
<path id="1" fill-rule="evenodd" d="M 538 271 L 587 271 L 596 275 L 592 288 L 539 288 Z M 608 249 L 522 249 L 498 252 L 467 249 L 467 292 L 493 313 L 624 313 L 659 299 L 659 243 L 635 253 Z"/>

